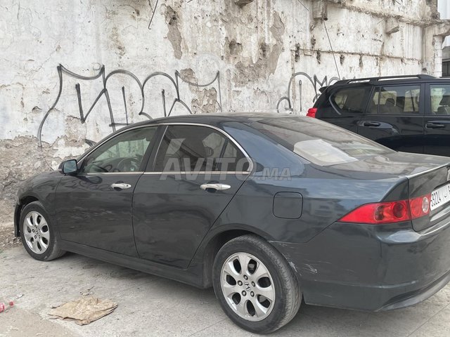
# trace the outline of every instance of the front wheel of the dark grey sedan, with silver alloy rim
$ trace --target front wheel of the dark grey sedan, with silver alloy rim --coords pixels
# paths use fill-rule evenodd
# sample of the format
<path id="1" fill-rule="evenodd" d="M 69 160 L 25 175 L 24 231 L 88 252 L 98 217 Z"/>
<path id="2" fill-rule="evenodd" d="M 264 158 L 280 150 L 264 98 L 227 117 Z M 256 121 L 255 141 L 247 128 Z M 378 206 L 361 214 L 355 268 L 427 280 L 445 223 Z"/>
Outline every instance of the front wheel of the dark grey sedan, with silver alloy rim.
<path id="1" fill-rule="evenodd" d="M 36 260 L 49 261 L 65 254 L 60 249 L 49 213 L 39 201 L 27 204 L 20 213 L 20 238 L 27 253 Z"/>

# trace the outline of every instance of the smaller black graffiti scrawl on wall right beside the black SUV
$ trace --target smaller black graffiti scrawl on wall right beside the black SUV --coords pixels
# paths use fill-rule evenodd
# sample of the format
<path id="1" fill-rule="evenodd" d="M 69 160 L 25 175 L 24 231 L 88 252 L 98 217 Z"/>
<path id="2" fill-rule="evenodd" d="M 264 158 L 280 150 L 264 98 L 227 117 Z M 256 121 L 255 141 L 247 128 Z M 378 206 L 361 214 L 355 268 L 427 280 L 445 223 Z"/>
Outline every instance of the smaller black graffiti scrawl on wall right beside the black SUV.
<path id="1" fill-rule="evenodd" d="M 316 75 L 314 75 L 313 77 L 311 77 L 309 74 L 307 74 L 306 72 L 295 72 L 295 74 L 293 74 L 288 82 L 288 94 L 283 96 L 282 98 L 280 98 L 278 100 L 278 103 L 276 104 L 276 110 L 277 112 L 280 112 L 280 106 L 281 103 L 285 102 L 287 104 L 287 106 L 285 105 L 285 110 L 288 112 L 293 112 L 294 111 L 294 107 L 293 107 L 293 102 L 291 100 L 291 94 L 292 94 L 292 85 L 293 83 L 296 81 L 297 77 L 300 77 L 300 79 L 298 80 L 298 86 L 299 86 L 299 101 L 300 101 L 300 109 L 299 111 L 303 110 L 302 107 L 302 91 L 304 89 L 304 80 L 307 80 L 307 84 L 311 84 L 313 89 L 314 89 L 314 95 L 313 95 L 313 99 L 312 102 L 316 102 L 317 98 L 319 98 L 319 96 L 321 95 L 320 92 L 320 88 L 322 88 L 323 86 L 329 86 L 330 84 L 333 84 L 336 81 L 339 81 L 340 79 L 338 77 L 330 77 L 330 79 L 328 79 L 328 77 L 323 77 L 322 80 L 320 80 Z"/>

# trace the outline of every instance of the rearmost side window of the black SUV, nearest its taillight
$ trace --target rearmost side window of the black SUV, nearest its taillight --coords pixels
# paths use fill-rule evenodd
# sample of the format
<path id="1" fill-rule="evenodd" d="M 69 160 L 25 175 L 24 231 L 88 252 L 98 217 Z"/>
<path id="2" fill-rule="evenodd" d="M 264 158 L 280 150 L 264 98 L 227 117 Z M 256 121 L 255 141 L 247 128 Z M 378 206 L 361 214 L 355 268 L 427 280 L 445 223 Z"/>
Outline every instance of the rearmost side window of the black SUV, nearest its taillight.
<path id="1" fill-rule="evenodd" d="M 342 113 L 362 113 L 367 104 L 367 96 L 370 88 L 343 88 L 335 91 L 331 97 L 331 103 Z"/>

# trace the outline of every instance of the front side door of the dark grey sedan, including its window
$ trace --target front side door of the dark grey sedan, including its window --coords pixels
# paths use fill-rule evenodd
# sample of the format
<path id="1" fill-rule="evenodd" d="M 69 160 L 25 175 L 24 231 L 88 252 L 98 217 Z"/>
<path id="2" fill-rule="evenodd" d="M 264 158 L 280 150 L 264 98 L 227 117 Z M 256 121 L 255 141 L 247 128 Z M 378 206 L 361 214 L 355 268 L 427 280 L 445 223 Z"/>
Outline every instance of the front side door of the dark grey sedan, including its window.
<path id="1" fill-rule="evenodd" d="M 77 175 L 61 179 L 56 190 L 61 239 L 137 256 L 131 201 L 156 129 L 119 133 L 82 159 Z"/>

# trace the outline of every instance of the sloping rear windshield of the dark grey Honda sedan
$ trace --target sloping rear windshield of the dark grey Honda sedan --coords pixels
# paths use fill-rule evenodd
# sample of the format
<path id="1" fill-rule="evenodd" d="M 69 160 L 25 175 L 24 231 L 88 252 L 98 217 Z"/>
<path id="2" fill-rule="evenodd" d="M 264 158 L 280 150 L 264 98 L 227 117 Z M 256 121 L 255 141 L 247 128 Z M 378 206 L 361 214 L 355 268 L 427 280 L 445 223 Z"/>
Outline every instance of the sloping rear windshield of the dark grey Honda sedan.
<path id="1" fill-rule="evenodd" d="M 252 127 L 300 157 L 321 166 L 394 152 L 343 128 L 310 117 L 261 119 Z"/>

